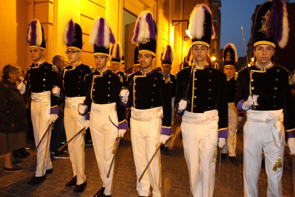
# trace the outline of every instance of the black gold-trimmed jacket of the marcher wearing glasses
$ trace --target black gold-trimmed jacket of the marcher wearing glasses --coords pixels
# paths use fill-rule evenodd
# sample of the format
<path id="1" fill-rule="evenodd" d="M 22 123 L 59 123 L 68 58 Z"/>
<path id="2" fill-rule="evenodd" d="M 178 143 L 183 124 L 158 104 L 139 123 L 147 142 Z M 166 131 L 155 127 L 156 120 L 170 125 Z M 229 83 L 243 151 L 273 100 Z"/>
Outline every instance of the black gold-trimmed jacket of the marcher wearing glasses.
<path id="1" fill-rule="evenodd" d="M 90 74 L 94 69 L 91 66 L 81 62 L 75 67 L 67 66 L 62 69 L 63 76 L 62 92 L 66 97 L 83 97 L 85 96 L 84 77 Z"/>

